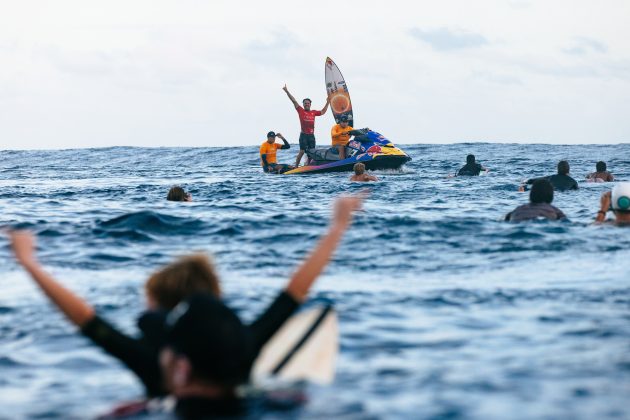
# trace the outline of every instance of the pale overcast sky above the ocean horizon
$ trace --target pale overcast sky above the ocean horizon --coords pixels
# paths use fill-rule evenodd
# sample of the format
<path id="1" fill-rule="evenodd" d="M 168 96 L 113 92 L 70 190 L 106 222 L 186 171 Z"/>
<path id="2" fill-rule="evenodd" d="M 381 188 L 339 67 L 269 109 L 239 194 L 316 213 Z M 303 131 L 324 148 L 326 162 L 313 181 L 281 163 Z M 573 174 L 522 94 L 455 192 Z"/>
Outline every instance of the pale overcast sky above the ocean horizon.
<path id="1" fill-rule="evenodd" d="M 629 0 L 0 5 L 3 149 L 297 142 L 327 56 L 396 143 L 630 142 Z"/>

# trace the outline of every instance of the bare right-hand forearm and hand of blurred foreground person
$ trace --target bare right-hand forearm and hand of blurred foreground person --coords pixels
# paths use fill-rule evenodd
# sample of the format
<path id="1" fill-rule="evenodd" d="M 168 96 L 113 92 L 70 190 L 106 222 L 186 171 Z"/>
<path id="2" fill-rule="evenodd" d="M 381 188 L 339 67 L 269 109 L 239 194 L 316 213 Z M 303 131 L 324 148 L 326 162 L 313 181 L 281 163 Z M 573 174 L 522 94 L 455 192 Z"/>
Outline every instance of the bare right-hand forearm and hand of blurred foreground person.
<path id="1" fill-rule="evenodd" d="M 286 292 L 298 302 L 303 301 L 309 289 L 324 271 L 330 257 L 337 249 L 344 232 L 348 229 L 352 214 L 361 208 L 363 196 L 340 197 L 335 202 L 335 210 L 328 233 L 319 240 L 311 254 L 293 274 L 286 287 Z"/>

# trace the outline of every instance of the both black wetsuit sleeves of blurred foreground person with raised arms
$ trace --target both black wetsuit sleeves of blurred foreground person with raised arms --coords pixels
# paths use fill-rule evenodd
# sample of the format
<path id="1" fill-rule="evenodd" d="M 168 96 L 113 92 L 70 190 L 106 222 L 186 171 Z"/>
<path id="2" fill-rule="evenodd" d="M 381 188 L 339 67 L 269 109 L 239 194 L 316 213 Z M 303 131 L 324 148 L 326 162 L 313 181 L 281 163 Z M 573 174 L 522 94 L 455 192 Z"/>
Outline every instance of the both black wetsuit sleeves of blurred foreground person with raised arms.
<path id="1" fill-rule="evenodd" d="M 282 292 L 273 303 L 248 326 L 254 343 L 255 354 L 280 329 L 282 324 L 295 312 L 299 303 L 286 292 Z M 148 396 L 161 396 L 164 389 L 158 355 L 160 348 L 145 338 L 132 338 L 94 316 L 81 329 L 86 337 L 119 359 L 142 381 Z M 251 360 L 253 364 L 254 360 Z"/>

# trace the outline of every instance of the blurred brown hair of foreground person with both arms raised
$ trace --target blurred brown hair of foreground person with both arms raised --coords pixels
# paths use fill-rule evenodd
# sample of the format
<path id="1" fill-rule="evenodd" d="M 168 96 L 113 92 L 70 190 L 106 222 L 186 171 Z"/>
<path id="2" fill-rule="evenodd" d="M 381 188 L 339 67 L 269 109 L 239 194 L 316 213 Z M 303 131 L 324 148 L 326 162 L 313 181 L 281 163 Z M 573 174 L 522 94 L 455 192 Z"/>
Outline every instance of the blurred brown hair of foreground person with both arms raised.
<path id="1" fill-rule="evenodd" d="M 221 288 L 214 264 L 204 254 L 193 254 L 153 273 L 145 285 L 147 295 L 161 309 L 171 310 L 194 293 L 211 293 L 219 298 Z"/>

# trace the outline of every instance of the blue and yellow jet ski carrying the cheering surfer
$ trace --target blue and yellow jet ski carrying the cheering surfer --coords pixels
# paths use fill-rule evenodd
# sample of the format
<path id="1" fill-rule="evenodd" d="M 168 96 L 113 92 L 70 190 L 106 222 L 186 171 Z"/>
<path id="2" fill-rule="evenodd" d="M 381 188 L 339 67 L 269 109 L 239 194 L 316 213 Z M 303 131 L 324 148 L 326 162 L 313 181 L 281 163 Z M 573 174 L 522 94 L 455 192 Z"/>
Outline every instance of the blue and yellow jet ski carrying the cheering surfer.
<path id="1" fill-rule="evenodd" d="M 405 152 L 394 146 L 382 134 L 368 128 L 352 130 L 354 136 L 346 145 L 346 158 L 339 159 L 336 147 L 315 148 L 306 151 L 306 166 L 284 172 L 284 175 L 349 172 L 355 163 L 366 169 L 398 169 L 411 160 Z"/>

